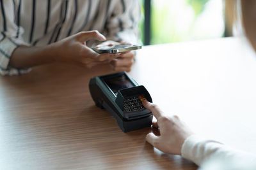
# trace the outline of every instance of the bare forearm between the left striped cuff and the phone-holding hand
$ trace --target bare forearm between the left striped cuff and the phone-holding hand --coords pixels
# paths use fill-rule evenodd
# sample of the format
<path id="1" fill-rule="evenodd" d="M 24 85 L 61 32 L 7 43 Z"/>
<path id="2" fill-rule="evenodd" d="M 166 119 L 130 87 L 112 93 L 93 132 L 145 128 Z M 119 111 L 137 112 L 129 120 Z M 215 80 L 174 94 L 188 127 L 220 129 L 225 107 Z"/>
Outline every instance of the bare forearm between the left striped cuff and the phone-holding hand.
<path id="1" fill-rule="evenodd" d="M 26 68 L 54 62 L 54 50 L 47 46 L 18 46 L 12 53 L 10 66 Z"/>

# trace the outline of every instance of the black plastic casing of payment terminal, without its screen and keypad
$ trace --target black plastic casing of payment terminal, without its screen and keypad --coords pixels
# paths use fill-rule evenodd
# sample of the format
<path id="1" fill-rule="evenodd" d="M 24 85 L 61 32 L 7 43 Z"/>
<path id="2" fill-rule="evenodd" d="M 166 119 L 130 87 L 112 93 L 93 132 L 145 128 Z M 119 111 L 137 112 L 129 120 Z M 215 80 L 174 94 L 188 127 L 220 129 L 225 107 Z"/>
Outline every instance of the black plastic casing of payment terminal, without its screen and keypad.
<path id="1" fill-rule="evenodd" d="M 134 87 L 118 90 L 118 93 L 115 96 L 108 85 L 104 83 L 104 78 L 120 75 L 127 76 Z M 111 115 L 116 118 L 116 122 L 122 131 L 129 132 L 144 127 L 150 127 L 152 125 L 153 115 L 147 109 L 130 113 L 124 111 L 124 98 L 127 96 L 143 94 L 149 102 L 152 102 L 152 98 L 147 89 L 142 85 L 138 85 L 138 83 L 132 80 L 127 73 L 120 72 L 104 76 L 96 76 L 90 80 L 89 89 L 96 106 L 106 109 L 111 113 Z"/>

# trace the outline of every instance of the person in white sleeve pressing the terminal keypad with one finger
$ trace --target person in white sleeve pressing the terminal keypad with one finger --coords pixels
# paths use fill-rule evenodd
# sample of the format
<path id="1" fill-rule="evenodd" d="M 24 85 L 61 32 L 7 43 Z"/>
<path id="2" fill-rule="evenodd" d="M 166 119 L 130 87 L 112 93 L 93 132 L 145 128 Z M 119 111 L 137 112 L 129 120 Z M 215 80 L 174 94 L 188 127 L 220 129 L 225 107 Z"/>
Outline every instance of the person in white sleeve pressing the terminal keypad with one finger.
<path id="1" fill-rule="evenodd" d="M 228 23 L 238 23 L 256 51 L 256 1 L 227 0 L 226 5 L 230 5 L 228 18 L 232 19 Z M 231 16 L 232 11 L 236 15 Z M 195 162 L 200 166 L 199 169 L 256 169 L 256 155 L 230 148 L 218 141 L 202 138 L 194 134 L 179 117 L 167 116 L 156 104 L 143 101 L 143 105 L 152 111 L 157 120 L 153 122 L 153 127 L 159 130 L 160 136 L 150 132 L 146 137 L 148 143 L 157 149 L 181 155 Z"/>

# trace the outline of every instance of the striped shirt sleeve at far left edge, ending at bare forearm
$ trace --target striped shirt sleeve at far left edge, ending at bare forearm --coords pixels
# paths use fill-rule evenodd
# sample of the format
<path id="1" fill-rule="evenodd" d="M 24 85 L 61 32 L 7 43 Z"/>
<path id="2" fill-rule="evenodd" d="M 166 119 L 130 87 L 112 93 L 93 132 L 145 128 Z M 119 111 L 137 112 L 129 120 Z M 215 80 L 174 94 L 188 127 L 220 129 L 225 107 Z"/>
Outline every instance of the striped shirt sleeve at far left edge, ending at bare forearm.
<path id="1" fill-rule="evenodd" d="M 0 0 L 0 74 L 2 75 L 22 74 L 29 71 L 29 69 L 9 66 L 13 50 L 17 46 L 27 45 L 21 38 L 23 29 L 17 25 L 19 24 L 20 3 L 21 0 Z"/>

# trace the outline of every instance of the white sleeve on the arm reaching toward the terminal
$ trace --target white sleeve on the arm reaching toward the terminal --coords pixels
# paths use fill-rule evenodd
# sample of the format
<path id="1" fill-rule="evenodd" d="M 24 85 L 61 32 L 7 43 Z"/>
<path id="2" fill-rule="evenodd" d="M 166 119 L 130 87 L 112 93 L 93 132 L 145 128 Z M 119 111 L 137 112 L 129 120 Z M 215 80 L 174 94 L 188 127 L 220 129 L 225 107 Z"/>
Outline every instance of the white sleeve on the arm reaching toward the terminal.
<path id="1" fill-rule="evenodd" d="M 196 135 L 184 141 L 181 155 L 201 166 L 200 169 L 256 169 L 255 155 Z"/>

